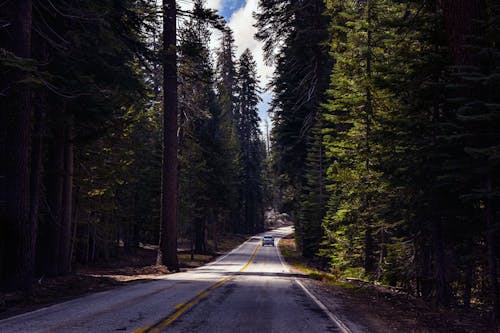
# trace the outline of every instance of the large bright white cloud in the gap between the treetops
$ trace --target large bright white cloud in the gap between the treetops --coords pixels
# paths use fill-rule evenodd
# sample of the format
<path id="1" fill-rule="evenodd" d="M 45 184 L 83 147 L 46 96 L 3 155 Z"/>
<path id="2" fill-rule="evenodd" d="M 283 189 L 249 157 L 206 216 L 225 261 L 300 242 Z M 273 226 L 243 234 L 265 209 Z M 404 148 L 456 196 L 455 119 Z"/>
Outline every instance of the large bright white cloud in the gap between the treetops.
<path id="1" fill-rule="evenodd" d="M 247 0 L 244 7 L 241 7 L 231 15 L 229 27 L 234 32 L 234 40 L 237 47 L 238 56 L 245 50 L 250 49 L 257 62 L 257 74 L 259 75 L 262 88 L 265 88 L 273 75 L 273 67 L 264 63 L 264 52 L 262 42 L 254 38 L 257 28 L 255 19 L 252 16 L 257 11 L 258 0 Z"/>

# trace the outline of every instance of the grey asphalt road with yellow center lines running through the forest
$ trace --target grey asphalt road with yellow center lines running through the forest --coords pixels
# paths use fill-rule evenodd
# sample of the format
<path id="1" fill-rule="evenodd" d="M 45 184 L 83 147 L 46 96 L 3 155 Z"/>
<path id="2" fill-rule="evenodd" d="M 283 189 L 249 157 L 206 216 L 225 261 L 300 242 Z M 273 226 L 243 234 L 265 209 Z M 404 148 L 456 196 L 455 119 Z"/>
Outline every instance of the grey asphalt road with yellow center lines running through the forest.
<path id="1" fill-rule="evenodd" d="M 2 320 L 0 332 L 349 332 L 261 239 L 189 272 Z"/>

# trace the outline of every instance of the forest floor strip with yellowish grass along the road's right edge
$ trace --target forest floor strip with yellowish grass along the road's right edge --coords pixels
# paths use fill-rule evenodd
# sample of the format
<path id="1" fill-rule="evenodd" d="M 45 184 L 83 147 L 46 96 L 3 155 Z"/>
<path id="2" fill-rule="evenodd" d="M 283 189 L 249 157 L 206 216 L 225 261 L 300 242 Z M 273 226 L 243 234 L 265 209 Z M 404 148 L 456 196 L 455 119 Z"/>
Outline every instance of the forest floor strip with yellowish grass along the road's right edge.
<path id="1" fill-rule="evenodd" d="M 491 333 L 479 309 L 439 308 L 389 287 L 357 279 L 339 280 L 300 255 L 293 238 L 282 239 L 281 252 L 296 273 L 308 274 L 309 287 L 346 324 L 370 333 Z M 359 325 L 357 325 L 359 323 Z M 355 327 L 352 327 L 353 329 Z"/>

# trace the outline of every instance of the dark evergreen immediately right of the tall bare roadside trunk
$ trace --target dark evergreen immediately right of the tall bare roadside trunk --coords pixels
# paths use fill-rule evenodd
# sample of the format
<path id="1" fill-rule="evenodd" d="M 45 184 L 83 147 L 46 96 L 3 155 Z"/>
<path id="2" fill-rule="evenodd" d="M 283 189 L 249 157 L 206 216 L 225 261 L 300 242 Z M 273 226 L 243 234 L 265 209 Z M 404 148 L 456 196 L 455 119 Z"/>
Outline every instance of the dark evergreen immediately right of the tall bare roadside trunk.
<path id="1" fill-rule="evenodd" d="M 202 2 L 197 1 L 195 7 L 202 10 Z M 220 143 L 215 133 L 219 110 L 213 92 L 214 73 L 208 49 L 211 34 L 205 20 L 193 17 L 179 35 L 180 209 L 194 251 L 206 253 L 209 223 L 215 223 L 211 218 L 215 206 L 211 179 L 220 170 L 213 166 L 218 159 L 214 150 Z"/>

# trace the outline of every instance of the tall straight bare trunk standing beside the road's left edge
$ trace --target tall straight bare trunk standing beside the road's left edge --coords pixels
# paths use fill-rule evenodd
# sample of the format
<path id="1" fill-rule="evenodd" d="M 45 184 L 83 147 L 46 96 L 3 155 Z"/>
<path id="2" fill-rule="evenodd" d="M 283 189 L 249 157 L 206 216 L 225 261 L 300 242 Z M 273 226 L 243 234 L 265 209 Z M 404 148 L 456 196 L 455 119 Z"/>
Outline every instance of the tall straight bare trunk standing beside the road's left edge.
<path id="1" fill-rule="evenodd" d="M 158 264 L 178 271 L 177 54 L 175 0 L 163 0 L 163 166 Z"/>

